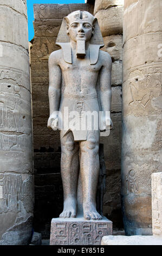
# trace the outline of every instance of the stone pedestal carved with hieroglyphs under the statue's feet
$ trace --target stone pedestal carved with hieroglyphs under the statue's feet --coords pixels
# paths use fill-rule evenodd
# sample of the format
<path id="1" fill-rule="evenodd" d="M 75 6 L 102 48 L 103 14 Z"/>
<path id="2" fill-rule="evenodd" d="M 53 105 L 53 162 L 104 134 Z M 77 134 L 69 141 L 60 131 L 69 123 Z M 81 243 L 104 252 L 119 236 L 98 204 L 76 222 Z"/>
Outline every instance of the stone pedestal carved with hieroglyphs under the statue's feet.
<path id="1" fill-rule="evenodd" d="M 100 221 L 53 218 L 50 245 L 101 245 L 103 236 L 112 235 L 112 224 L 106 217 Z"/>

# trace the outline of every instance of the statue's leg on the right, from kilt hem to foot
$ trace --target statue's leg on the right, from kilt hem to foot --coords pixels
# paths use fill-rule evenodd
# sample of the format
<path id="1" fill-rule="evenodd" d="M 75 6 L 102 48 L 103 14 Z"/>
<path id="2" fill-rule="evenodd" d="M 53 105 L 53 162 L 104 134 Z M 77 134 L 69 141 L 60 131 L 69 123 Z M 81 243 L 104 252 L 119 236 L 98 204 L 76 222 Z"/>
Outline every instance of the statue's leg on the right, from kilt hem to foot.
<path id="1" fill-rule="evenodd" d="M 87 141 L 80 142 L 83 213 L 86 220 L 101 220 L 96 211 L 96 190 L 99 178 L 100 131 L 89 131 Z"/>

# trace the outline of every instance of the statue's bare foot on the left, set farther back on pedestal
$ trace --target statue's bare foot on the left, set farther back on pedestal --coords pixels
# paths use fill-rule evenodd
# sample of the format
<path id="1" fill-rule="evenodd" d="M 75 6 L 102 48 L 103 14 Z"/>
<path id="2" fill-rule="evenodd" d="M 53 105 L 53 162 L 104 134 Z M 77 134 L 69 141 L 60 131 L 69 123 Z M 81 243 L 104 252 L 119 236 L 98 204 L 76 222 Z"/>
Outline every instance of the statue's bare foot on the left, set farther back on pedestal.
<path id="1" fill-rule="evenodd" d="M 76 217 L 76 199 L 67 198 L 63 203 L 63 212 L 60 218 L 75 218 Z"/>

